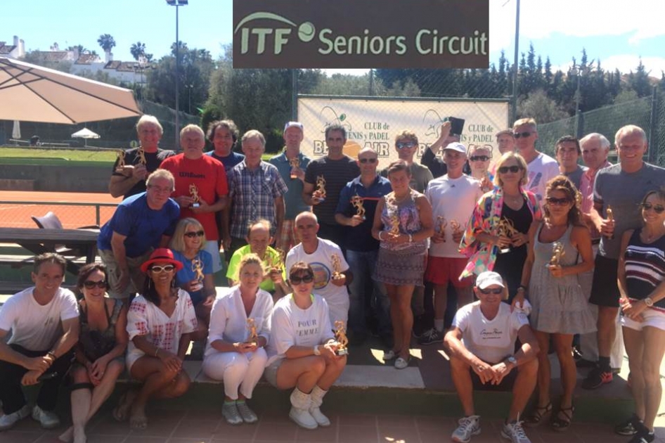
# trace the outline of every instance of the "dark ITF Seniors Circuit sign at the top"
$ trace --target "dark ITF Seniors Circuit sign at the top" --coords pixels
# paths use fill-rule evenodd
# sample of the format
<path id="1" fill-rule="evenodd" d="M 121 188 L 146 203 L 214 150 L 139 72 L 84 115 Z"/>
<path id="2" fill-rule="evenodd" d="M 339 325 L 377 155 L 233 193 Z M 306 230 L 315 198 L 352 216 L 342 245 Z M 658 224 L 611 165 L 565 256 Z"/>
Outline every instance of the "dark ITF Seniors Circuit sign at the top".
<path id="1" fill-rule="evenodd" d="M 233 68 L 487 68 L 489 0 L 233 0 Z"/>

